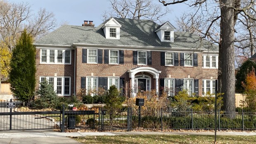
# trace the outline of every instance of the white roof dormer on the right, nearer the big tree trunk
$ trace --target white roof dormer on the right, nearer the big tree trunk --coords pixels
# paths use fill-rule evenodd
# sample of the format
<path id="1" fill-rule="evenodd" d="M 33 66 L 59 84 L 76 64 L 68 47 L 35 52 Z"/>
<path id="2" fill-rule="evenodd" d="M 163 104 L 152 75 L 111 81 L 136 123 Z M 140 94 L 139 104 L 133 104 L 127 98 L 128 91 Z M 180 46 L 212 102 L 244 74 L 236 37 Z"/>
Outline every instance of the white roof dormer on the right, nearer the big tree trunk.
<path id="1" fill-rule="evenodd" d="M 155 33 L 158 35 L 161 42 L 173 42 L 175 29 L 176 28 L 169 21 L 166 21 L 156 28 Z"/>

